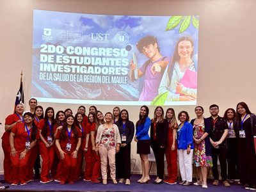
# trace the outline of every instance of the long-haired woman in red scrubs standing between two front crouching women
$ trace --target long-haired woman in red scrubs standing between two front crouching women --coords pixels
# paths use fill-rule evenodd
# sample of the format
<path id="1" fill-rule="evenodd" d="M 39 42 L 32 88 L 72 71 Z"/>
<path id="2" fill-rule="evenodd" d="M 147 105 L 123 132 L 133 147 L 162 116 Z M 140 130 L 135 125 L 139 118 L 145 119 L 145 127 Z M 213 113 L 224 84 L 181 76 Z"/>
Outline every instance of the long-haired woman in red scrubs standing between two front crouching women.
<path id="1" fill-rule="evenodd" d="M 43 184 L 52 181 L 52 179 L 49 178 L 49 172 L 52 168 L 52 163 L 54 161 L 54 125 L 54 109 L 49 107 L 45 110 L 44 118 L 38 123 L 40 135 L 40 140 L 38 144 L 40 148 L 40 154 L 43 160 L 40 182 Z"/>

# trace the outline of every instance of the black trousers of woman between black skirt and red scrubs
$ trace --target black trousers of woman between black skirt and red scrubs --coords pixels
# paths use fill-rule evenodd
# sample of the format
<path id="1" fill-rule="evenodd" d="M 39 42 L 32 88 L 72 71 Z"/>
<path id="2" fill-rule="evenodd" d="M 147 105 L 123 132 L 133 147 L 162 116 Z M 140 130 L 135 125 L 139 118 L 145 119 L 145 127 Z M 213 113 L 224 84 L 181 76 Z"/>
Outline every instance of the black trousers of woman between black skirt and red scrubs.
<path id="1" fill-rule="evenodd" d="M 157 141 L 152 141 L 151 148 L 156 158 L 157 177 L 164 179 L 164 154 L 165 148 L 161 148 Z"/>

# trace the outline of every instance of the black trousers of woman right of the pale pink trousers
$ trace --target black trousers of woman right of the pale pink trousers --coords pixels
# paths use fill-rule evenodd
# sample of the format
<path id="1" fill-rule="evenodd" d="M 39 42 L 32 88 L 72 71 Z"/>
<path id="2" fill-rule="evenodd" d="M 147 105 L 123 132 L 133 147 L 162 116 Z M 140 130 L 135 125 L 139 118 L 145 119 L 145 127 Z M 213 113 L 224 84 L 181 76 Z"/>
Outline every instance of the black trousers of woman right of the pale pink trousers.
<path id="1" fill-rule="evenodd" d="M 130 179 L 131 177 L 131 144 L 120 147 L 116 153 L 116 178 Z"/>

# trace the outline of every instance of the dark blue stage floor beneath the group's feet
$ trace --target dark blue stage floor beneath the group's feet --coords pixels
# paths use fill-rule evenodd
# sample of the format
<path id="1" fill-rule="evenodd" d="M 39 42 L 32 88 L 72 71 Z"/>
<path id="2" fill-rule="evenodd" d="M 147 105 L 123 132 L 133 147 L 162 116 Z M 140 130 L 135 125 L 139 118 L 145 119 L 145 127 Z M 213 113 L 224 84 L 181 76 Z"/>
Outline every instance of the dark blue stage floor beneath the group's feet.
<path id="1" fill-rule="evenodd" d="M 3 179 L 3 175 L 0 177 Z M 75 184 L 65 184 L 60 185 L 58 182 L 50 182 L 48 184 L 41 184 L 39 180 L 29 182 L 25 186 L 10 186 L 10 188 L 5 189 L 6 191 L 191 191 L 191 192 L 200 192 L 200 191 L 216 191 L 216 192 L 238 192 L 238 191 L 248 191 L 243 189 L 242 186 L 231 184 L 230 188 L 225 188 L 220 182 L 219 186 L 212 186 L 212 180 L 208 182 L 208 189 L 203 189 L 200 186 L 181 186 L 180 184 L 154 184 L 154 179 L 156 176 L 152 175 L 151 180 L 148 184 L 138 184 L 136 180 L 140 179 L 140 175 L 132 175 L 131 185 L 125 186 L 125 184 L 112 184 L 111 180 L 108 180 L 108 184 L 105 186 L 102 183 L 92 183 L 79 180 Z M 8 184 L 4 184 L 8 185 Z M 250 190 L 249 190 L 250 191 Z"/>

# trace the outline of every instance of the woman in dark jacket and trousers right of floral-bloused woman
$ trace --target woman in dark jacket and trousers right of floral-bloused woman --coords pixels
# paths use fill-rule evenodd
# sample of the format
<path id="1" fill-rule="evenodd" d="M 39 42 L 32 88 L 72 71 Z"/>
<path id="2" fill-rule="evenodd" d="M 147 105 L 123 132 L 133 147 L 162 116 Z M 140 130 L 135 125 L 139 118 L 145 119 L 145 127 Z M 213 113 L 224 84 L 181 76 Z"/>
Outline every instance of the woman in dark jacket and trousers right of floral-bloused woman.
<path id="1" fill-rule="evenodd" d="M 129 120 L 126 109 L 120 111 L 116 125 L 122 142 L 120 152 L 116 154 L 116 178 L 120 179 L 119 182 L 125 180 L 125 184 L 129 185 L 131 184 L 131 141 L 134 136 L 134 124 Z"/>

